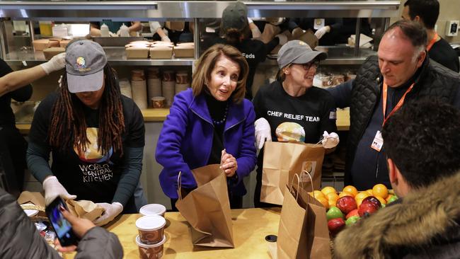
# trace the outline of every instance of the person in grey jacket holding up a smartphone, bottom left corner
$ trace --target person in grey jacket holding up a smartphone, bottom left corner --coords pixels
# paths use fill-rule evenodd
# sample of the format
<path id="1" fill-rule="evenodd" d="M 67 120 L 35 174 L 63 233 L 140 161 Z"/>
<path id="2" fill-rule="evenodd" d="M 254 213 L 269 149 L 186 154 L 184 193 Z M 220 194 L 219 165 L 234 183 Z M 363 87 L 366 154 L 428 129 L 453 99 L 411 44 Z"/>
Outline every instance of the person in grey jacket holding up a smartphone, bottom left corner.
<path id="1" fill-rule="evenodd" d="M 58 251 L 76 251 L 75 258 L 123 258 L 123 248 L 115 234 L 95 226 L 88 219 L 79 219 L 65 209 L 60 212 L 80 240 L 76 246 L 58 245 Z M 0 258 L 61 258 L 40 236 L 15 197 L 1 188 L 0 229 Z"/>

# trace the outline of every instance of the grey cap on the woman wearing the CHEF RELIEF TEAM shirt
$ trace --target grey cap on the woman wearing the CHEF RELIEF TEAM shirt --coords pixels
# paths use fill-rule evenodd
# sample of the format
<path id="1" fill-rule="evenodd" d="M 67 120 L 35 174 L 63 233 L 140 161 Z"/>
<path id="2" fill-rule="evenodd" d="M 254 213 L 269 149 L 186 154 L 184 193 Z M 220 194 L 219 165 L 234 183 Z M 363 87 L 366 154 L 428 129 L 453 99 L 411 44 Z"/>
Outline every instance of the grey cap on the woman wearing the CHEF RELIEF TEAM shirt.
<path id="1" fill-rule="evenodd" d="M 291 40 L 282 45 L 278 51 L 278 66 L 280 69 L 288 64 L 305 64 L 314 59 L 323 60 L 328 57 L 326 52 L 311 50 L 311 47 L 301 40 Z"/>

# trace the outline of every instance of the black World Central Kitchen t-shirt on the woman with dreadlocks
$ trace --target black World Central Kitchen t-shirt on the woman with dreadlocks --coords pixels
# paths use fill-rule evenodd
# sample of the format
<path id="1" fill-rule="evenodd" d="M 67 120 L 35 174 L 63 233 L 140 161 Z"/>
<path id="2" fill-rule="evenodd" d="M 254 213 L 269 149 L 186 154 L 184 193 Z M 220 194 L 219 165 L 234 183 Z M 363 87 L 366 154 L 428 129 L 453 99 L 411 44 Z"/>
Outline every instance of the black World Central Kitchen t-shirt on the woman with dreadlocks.
<path id="1" fill-rule="evenodd" d="M 30 142 L 50 148 L 48 128 L 51 125 L 52 106 L 58 97 L 52 93 L 42 100 L 35 112 L 30 130 Z M 122 96 L 123 114 L 125 116 L 125 133 L 122 135 L 122 146 L 144 146 L 144 119 L 139 108 L 132 99 Z M 83 105 L 86 120 L 86 135 L 91 142 L 86 146 L 84 154 L 77 154 L 74 146 L 65 151 L 52 148 L 53 174 L 66 190 L 79 197 L 79 200 L 93 202 L 111 202 L 120 180 L 123 159 L 120 152 L 98 151 L 99 110 Z"/>

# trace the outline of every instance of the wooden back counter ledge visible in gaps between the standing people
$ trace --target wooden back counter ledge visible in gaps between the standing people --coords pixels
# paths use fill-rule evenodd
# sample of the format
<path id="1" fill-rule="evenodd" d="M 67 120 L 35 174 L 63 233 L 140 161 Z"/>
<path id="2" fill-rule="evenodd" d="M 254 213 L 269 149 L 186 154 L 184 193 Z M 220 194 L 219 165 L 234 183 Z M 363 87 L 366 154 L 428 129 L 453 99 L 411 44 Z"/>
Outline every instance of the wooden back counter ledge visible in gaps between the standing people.
<path id="1" fill-rule="evenodd" d="M 141 111 L 145 122 L 162 122 L 169 114 L 168 108 L 146 109 Z M 350 129 L 350 111 L 338 109 L 336 124 L 338 130 Z M 28 134 L 30 131 L 30 124 L 16 124 L 16 127 L 19 129 L 21 134 Z"/>

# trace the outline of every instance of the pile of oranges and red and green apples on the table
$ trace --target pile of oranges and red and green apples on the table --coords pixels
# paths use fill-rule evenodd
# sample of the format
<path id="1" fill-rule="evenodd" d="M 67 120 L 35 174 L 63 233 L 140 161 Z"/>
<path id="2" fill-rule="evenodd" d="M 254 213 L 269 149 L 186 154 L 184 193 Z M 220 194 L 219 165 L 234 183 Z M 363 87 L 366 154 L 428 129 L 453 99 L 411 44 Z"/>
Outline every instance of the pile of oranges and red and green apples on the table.
<path id="1" fill-rule="evenodd" d="M 328 228 L 330 234 L 335 236 L 345 226 L 355 224 L 361 217 L 367 217 L 397 200 L 398 197 L 390 192 L 385 185 L 376 184 L 374 188 L 362 192 L 348 185 L 339 194 L 330 186 L 309 194 L 326 207 Z"/>

